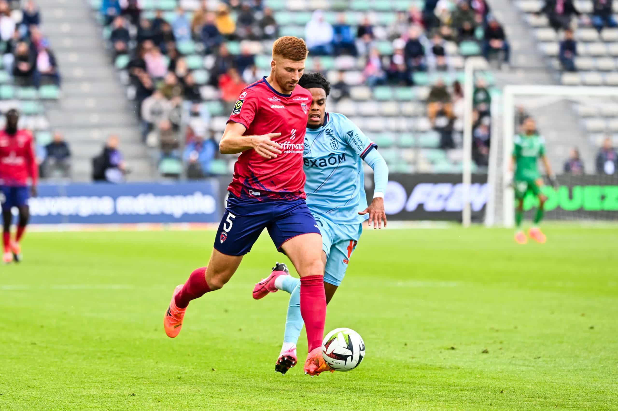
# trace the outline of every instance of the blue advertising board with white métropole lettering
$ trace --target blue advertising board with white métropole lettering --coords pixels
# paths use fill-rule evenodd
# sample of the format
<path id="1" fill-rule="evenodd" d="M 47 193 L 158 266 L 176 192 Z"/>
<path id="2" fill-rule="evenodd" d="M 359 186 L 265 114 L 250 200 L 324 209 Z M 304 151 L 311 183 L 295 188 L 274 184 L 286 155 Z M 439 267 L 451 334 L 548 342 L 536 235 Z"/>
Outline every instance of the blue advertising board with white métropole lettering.
<path id="1" fill-rule="evenodd" d="M 216 223 L 223 213 L 216 179 L 195 183 L 40 185 L 33 224 Z"/>

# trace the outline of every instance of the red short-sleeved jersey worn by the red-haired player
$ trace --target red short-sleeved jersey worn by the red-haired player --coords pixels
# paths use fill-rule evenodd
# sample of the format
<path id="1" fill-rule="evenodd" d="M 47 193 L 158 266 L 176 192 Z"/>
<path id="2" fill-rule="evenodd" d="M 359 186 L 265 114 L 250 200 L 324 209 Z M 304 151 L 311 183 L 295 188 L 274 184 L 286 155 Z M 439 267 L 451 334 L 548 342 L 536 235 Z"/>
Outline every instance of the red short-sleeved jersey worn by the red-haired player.
<path id="1" fill-rule="evenodd" d="M 281 133 L 273 141 L 283 153 L 265 159 L 255 150 L 243 151 L 229 191 L 245 199 L 305 198 L 303 147 L 310 106 L 311 93 L 298 85 L 291 94 L 282 94 L 264 77 L 243 89 L 227 122 L 245 126 L 247 136 Z"/>

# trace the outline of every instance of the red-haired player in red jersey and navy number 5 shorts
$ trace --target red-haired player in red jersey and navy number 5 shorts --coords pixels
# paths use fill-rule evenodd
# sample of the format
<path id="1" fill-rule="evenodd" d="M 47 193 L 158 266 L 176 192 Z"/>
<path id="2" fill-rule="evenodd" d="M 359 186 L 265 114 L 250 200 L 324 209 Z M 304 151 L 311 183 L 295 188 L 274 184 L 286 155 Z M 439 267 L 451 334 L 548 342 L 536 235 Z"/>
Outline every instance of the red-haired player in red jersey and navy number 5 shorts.
<path id="1" fill-rule="evenodd" d="M 311 93 L 297 83 L 307 54 L 303 39 L 277 39 L 270 75 L 240 93 L 219 143 L 222 154 L 242 154 L 227 188 L 214 250 L 208 266 L 195 270 L 174 290 L 164 328 L 176 337 L 189 301 L 222 288 L 266 228 L 300 276 L 300 312 L 310 351 L 305 372 L 313 376 L 324 366 L 320 347 L 326 297 L 322 239 L 305 202 L 303 146 Z"/>

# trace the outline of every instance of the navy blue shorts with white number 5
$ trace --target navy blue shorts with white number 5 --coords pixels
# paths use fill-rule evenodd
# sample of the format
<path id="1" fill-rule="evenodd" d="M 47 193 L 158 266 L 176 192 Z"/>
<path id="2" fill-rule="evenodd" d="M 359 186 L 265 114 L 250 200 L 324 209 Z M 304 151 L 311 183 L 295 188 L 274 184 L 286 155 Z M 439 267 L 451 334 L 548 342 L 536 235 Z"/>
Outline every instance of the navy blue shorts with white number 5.
<path id="1" fill-rule="evenodd" d="M 320 229 L 303 199 L 292 201 L 243 200 L 230 193 L 227 208 L 214 248 L 227 255 L 244 255 L 251 251 L 262 230 L 268 230 L 277 250 L 292 237 Z"/>

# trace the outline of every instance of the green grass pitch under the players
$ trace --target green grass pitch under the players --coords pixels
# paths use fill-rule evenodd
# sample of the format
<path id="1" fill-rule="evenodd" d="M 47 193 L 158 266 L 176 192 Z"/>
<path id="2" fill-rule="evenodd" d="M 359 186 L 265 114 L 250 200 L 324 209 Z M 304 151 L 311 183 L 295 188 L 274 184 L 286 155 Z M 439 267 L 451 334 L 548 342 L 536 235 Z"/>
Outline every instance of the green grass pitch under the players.
<path id="1" fill-rule="evenodd" d="M 0 267 L 0 410 L 618 409 L 618 230 L 546 234 L 365 230 L 326 322 L 365 360 L 312 379 L 274 373 L 288 296 L 251 297 L 285 259 L 267 236 L 169 339 L 214 232 L 28 233 Z"/>

